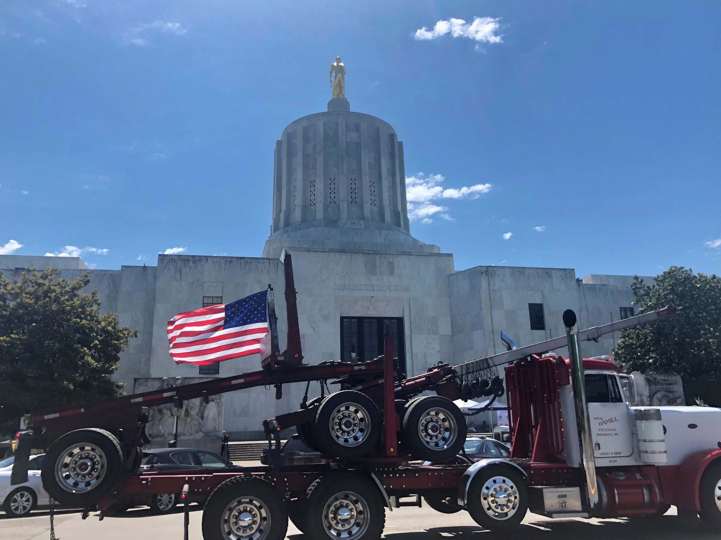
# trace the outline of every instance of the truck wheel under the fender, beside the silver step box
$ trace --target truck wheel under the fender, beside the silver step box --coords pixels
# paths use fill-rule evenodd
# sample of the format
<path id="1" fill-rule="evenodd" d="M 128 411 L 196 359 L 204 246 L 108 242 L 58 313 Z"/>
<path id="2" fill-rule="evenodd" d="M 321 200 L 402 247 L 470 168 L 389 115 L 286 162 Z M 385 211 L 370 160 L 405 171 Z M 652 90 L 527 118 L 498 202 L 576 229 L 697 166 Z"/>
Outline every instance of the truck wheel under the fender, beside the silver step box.
<path id="1" fill-rule="evenodd" d="M 500 480 L 503 478 L 503 480 Z M 492 507 L 489 496 L 498 489 L 507 497 L 499 498 L 508 505 Z M 498 500 L 498 499 L 496 499 Z M 495 511 L 496 508 L 500 511 Z M 466 510 L 473 521 L 490 531 L 510 532 L 523 521 L 528 510 L 528 489 L 523 474 L 512 465 L 493 464 L 480 469 L 468 487 Z M 503 512 L 503 510 L 508 510 Z M 491 513 L 494 516 L 491 516 Z"/>

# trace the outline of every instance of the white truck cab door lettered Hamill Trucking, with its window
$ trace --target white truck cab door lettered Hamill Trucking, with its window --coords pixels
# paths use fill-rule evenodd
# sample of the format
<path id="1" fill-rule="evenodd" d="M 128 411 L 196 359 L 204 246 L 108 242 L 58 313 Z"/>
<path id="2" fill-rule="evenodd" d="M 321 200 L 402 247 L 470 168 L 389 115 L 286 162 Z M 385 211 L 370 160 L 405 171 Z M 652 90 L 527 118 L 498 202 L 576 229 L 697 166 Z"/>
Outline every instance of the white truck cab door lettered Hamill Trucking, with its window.
<path id="1" fill-rule="evenodd" d="M 585 391 L 593 455 L 607 458 L 633 454 L 628 405 L 618 379 L 606 373 L 587 373 Z"/>

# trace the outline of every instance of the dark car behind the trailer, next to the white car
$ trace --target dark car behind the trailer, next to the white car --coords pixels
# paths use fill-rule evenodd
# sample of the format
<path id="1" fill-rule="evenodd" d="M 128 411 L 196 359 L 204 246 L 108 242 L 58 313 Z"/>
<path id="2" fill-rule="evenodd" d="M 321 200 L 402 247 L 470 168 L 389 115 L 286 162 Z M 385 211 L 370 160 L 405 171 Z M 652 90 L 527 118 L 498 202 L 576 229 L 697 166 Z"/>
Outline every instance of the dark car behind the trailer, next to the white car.
<path id="1" fill-rule="evenodd" d="M 159 448 L 143 452 L 140 472 L 190 472 L 208 470 L 210 472 L 241 471 L 243 467 L 234 465 L 223 456 L 197 448 Z M 210 495 L 189 495 L 190 503 L 203 503 Z M 125 495 L 113 505 L 112 510 L 123 511 L 135 506 L 147 505 L 156 513 L 166 513 L 180 502 L 180 493 L 156 493 L 155 495 Z"/>

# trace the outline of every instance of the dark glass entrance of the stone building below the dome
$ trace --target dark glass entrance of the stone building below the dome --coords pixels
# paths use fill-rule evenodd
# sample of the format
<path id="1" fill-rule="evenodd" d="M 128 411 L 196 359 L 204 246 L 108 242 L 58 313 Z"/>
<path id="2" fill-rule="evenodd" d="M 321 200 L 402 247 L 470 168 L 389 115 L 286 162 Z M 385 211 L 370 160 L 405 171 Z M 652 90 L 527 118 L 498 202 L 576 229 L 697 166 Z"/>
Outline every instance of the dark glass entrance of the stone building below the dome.
<path id="1" fill-rule="evenodd" d="M 406 373 L 403 319 L 395 317 L 341 317 L 340 359 L 345 362 L 368 361 L 383 354 L 383 333 L 388 325 L 393 338 L 396 370 Z"/>

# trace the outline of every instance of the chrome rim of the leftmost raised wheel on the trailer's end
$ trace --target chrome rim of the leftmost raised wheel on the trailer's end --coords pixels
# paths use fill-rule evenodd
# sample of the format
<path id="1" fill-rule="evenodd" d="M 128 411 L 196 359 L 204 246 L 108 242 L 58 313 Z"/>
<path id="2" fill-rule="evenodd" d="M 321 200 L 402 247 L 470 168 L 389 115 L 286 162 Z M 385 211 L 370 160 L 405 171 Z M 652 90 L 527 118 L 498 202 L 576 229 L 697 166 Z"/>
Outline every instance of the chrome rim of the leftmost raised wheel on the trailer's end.
<path id="1" fill-rule="evenodd" d="M 63 490 L 85 493 L 105 477 L 105 453 L 94 444 L 76 443 L 68 446 L 55 464 L 55 478 Z"/>

